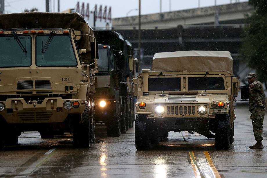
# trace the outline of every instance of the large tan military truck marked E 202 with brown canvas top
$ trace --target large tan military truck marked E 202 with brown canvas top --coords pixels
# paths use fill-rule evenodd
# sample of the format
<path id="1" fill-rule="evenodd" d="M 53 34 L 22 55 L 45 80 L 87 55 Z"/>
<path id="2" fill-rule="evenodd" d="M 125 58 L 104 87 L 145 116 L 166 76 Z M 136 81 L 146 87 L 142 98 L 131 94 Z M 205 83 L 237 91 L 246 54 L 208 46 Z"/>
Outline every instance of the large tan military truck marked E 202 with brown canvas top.
<path id="1" fill-rule="evenodd" d="M 25 131 L 42 138 L 73 133 L 73 145 L 95 139 L 92 28 L 77 13 L 0 15 L 0 144 Z"/>

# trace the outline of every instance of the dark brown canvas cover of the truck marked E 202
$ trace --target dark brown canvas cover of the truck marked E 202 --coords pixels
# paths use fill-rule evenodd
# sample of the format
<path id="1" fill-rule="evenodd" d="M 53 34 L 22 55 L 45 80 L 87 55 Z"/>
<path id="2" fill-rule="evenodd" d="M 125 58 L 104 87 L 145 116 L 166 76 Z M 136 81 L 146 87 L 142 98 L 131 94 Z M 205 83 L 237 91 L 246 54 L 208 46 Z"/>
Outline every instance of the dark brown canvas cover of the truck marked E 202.
<path id="1" fill-rule="evenodd" d="M 81 31 L 81 34 L 93 36 L 93 29 L 78 13 L 24 12 L 0 14 L 0 29 L 8 30 L 12 28 L 71 28 Z M 86 64 L 94 62 L 94 59 L 91 59 L 90 46 L 90 42 L 93 41 L 94 39 L 88 36 L 81 36 L 81 39 L 77 41 L 79 49 L 86 49 L 86 53 L 81 54 L 82 61 Z"/>

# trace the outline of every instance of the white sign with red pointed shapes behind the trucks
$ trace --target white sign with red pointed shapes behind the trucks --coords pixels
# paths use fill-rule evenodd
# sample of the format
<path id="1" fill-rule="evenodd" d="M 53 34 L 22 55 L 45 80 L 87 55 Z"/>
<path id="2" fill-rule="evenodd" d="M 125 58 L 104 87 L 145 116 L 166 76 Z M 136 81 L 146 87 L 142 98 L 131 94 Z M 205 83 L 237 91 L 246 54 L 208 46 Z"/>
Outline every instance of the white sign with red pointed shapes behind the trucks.
<path id="1" fill-rule="evenodd" d="M 95 4 L 92 8 L 89 3 L 85 5 L 84 2 L 80 4 L 78 1 L 74 11 L 80 13 L 86 22 L 95 29 L 110 30 L 112 27 L 111 7 L 102 5 L 98 7 Z"/>

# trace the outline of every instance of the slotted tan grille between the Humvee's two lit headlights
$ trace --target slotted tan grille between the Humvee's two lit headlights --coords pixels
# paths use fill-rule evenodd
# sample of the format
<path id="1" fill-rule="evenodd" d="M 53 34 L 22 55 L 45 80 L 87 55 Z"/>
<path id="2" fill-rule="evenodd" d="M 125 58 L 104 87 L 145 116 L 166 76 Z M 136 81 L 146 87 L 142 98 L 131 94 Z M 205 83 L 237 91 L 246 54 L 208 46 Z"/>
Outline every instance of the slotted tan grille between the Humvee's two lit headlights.
<path id="1" fill-rule="evenodd" d="M 196 106 L 194 105 L 178 105 L 178 106 L 167 106 L 167 116 L 185 116 L 194 117 L 196 114 Z M 174 112 L 175 111 L 175 112 Z"/>

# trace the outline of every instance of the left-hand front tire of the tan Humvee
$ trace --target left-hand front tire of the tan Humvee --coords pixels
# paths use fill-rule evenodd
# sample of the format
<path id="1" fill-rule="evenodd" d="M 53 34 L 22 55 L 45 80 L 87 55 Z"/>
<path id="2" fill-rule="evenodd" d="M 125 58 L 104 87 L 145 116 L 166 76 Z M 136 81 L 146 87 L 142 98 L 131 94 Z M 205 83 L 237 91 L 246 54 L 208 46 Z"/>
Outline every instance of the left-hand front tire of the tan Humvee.
<path id="1" fill-rule="evenodd" d="M 151 148 L 151 135 L 146 119 L 147 115 L 136 115 L 134 132 L 136 150 L 149 150 Z"/>

